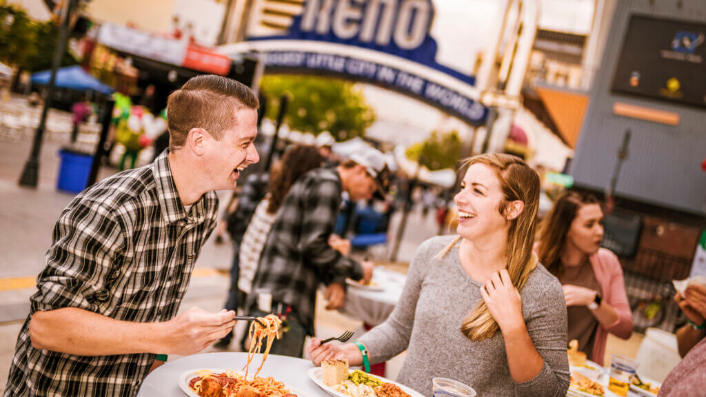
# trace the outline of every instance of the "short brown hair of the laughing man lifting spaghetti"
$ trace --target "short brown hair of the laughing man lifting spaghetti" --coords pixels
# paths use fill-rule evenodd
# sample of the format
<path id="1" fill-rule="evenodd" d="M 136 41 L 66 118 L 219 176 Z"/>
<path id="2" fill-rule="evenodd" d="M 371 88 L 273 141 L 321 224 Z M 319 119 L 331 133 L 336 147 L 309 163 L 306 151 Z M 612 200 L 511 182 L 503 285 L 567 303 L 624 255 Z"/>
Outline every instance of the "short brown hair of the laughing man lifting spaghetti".
<path id="1" fill-rule="evenodd" d="M 184 146 L 193 128 L 205 129 L 219 141 L 225 131 L 238 124 L 233 107 L 237 111 L 258 109 L 260 102 L 253 90 L 232 78 L 213 74 L 190 78 L 167 100 L 169 148 Z"/>

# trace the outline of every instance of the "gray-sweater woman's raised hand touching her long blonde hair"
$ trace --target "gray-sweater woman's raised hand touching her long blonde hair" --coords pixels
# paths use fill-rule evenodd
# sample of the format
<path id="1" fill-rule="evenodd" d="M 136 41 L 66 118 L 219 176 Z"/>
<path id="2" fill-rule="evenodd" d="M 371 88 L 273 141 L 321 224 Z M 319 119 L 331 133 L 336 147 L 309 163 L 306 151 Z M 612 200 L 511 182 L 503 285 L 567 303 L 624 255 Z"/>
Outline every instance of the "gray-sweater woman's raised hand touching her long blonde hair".
<path id="1" fill-rule="evenodd" d="M 481 285 L 481 295 L 503 334 L 525 328 L 522 298 L 506 269 L 493 273 L 491 279 Z"/>

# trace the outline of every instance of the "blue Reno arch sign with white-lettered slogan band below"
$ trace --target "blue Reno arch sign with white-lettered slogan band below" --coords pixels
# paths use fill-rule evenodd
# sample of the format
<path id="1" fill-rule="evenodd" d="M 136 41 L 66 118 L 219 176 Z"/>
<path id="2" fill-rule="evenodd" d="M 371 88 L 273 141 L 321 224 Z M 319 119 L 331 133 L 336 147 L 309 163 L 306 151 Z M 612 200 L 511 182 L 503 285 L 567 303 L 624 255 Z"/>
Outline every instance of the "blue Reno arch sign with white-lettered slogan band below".
<path id="1" fill-rule="evenodd" d="M 269 73 L 381 85 L 482 124 L 474 76 L 437 59 L 434 18 L 431 0 L 254 0 L 247 41 L 221 52 L 263 53 Z"/>

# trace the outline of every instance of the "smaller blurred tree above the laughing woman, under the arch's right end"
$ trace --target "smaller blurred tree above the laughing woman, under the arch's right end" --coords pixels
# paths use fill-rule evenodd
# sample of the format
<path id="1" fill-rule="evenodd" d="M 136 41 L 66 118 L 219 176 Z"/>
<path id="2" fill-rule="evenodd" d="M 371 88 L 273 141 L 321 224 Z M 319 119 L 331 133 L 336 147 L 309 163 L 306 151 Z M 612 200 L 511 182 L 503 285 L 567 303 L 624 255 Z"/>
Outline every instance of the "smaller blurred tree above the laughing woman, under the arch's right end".
<path id="1" fill-rule="evenodd" d="M 432 131 L 424 142 L 407 148 L 407 158 L 419 162 L 431 171 L 455 168 L 461 155 L 462 142 L 456 130 L 440 134 Z"/>

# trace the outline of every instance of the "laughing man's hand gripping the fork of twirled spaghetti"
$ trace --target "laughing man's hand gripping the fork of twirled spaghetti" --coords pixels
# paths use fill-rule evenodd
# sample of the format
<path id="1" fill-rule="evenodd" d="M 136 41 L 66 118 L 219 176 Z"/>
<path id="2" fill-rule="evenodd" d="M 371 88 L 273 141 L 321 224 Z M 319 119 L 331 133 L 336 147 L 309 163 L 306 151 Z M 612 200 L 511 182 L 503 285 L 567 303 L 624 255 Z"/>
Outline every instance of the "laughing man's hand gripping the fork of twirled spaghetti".
<path id="1" fill-rule="evenodd" d="M 206 312 L 192 307 L 169 321 L 160 324 L 164 330 L 160 352 L 192 355 L 226 336 L 235 325 L 235 312 L 221 310 Z"/>

